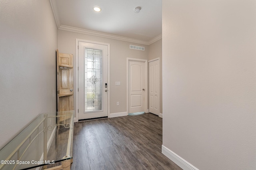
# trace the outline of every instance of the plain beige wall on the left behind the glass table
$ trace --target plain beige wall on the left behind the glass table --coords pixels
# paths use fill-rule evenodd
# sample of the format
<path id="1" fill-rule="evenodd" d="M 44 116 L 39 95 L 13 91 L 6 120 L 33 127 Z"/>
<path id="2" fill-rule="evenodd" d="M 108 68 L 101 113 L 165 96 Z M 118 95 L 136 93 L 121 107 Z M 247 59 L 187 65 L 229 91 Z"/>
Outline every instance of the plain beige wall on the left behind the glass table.
<path id="1" fill-rule="evenodd" d="M 0 148 L 56 111 L 57 39 L 48 0 L 0 1 Z"/>

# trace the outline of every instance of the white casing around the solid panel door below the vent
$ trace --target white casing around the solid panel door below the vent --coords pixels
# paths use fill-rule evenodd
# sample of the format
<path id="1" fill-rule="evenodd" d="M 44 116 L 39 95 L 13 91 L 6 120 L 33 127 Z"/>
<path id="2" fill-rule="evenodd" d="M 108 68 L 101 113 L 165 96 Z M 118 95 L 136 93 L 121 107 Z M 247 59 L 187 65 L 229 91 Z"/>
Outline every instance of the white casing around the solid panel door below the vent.
<path id="1" fill-rule="evenodd" d="M 145 95 L 144 95 L 144 112 L 148 113 L 148 60 L 127 58 L 126 59 L 126 112 L 129 114 L 129 61 L 142 61 L 144 62 L 144 84 L 145 84 Z"/>

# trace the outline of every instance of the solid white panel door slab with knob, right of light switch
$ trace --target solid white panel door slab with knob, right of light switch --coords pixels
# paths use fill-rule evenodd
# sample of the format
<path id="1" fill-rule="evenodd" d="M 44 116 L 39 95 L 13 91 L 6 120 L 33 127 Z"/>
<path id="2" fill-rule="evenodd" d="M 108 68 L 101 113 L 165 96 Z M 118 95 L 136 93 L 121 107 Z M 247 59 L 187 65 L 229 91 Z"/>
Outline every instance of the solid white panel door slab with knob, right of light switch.
<path id="1" fill-rule="evenodd" d="M 128 113 L 145 111 L 145 66 L 144 61 L 128 61 Z"/>

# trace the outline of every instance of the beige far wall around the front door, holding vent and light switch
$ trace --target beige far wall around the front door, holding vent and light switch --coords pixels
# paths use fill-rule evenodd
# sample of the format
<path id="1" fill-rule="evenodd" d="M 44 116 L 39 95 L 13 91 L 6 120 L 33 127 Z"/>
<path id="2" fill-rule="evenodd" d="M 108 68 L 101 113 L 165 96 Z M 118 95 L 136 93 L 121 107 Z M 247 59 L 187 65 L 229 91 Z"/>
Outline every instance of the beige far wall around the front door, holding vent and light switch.
<path id="1" fill-rule="evenodd" d="M 148 59 L 148 45 L 58 30 L 58 49 L 61 53 L 73 54 L 74 63 L 76 63 L 76 38 L 110 44 L 110 114 L 126 112 L 126 58 Z M 130 44 L 143 46 L 145 51 L 130 49 Z M 116 86 L 116 81 L 120 81 L 121 85 Z M 75 87 L 76 83 L 74 83 Z M 119 106 L 116 105 L 118 101 Z"/>

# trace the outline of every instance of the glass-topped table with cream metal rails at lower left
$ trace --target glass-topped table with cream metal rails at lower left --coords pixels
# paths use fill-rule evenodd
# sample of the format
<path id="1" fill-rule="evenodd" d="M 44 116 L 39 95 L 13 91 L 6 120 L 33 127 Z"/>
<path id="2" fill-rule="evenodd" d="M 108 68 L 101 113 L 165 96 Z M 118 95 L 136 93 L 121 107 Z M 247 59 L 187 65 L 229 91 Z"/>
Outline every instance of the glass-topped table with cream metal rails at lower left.
<path id="1" fill-rule="evenodd" d="M 74 111 L 43 113 L 0 150 L 0 170 L 70 170 Z"/>

